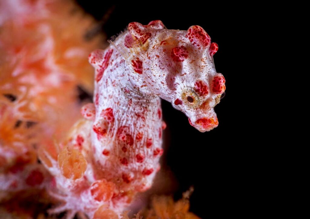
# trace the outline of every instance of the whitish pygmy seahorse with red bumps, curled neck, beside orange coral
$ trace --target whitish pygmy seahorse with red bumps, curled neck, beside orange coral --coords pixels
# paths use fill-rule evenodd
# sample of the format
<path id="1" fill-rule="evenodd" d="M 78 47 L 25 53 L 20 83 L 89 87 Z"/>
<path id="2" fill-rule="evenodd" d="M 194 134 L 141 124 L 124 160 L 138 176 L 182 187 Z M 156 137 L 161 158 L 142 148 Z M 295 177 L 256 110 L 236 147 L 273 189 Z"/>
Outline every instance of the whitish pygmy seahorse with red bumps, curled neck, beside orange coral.
<path id="1" fill-rule="evenodd" d="M 213 108 L 225 90 L 225 79 L 213 62 L 218 46 L 199 26 L 180 31 L 164 29 L 158 20 L 148 25 L 133 22 L 110 43 L 89 55 L 95 68 L 94 104 L 81 109 L 87 122 L 71 135 L 71 143 L 88 164 L 84 177 L 73 184 L 105 179 L 117 185 L 115 194 L 123 195 L 98 202 L 89 197 L 88 186 L 75 201 L 69 200 L 72 195 L 60 197 L 67 203 L 61 210 L 82 211 L 90 217 L 102 204 L 121 213 L 131 201 L 127 194 L 152 186 L 163 152 L 160 98 L 204 132 L 217 127 Z M 62 192 L 74 193 L 76 187 L 68 186 L 71 179 L 60 171 L 53 175 Z"/>

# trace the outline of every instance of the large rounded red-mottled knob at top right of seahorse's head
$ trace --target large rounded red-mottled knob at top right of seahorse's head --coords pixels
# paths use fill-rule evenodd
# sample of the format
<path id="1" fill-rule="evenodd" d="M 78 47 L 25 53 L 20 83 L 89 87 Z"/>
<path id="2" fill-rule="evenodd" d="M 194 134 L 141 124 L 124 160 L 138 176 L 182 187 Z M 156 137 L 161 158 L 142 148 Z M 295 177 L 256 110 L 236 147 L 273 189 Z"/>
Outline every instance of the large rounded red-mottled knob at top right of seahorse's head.
<path id="1" fill-rule="evenodd" d="M 206 48 L 211 42 L 210 36 L 198 25 L 188 28 L 186 37 L 198 49 L 201 49 L 201 45 Z"/>

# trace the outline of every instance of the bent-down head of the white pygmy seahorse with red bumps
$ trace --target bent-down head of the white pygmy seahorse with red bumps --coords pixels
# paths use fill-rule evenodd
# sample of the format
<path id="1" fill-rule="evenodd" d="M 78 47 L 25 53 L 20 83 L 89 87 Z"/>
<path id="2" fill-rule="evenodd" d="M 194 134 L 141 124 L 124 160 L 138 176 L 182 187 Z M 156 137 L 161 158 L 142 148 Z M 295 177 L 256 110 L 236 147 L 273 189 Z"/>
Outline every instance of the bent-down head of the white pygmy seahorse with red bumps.
<path id="1" fill-rule="evenodd" d="M 225 79 L 214 66 L 218 45 L 203 28 L 169 30 L 158 20 L 133 22 L 122 39 L 127 62 L 152 93 L 184 112 L 197 130 L 218 126 L 214 107 L 225 91 Z"/>

